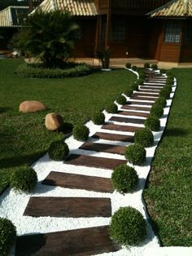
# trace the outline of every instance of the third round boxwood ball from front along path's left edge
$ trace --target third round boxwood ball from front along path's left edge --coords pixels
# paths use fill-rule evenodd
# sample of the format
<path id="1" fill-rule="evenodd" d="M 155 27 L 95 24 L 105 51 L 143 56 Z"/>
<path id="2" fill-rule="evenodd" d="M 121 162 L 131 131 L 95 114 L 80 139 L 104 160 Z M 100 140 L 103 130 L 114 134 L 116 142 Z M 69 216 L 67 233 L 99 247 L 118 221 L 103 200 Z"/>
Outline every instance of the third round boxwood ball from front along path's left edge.
<path id="1" fill-rule="evenodd" d="M 63 140 L 54 141 L 50 144 L 48 154 L 52 160 L 63 161 L 68 157 L 69 154 L 68 144 Z"/>

